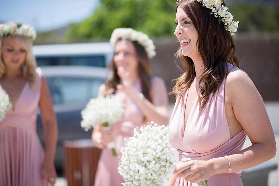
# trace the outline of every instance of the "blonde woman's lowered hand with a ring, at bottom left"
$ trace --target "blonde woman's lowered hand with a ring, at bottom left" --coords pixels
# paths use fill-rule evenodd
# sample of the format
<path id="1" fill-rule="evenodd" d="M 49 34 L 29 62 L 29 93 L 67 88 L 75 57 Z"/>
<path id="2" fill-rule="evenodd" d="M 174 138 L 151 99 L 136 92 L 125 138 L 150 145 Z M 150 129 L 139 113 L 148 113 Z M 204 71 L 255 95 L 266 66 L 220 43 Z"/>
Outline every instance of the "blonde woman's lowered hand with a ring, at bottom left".
<path id="1" fill-rule="evenodd" d="M 50 184 L 51 186 L 54 185 L 55 180 L 57 178 L 54 163 L 49 163 L 44 161 L 41 166 L 40 174 L 41 174 L 41 178 L 47 179 L 48 184 Z"/>

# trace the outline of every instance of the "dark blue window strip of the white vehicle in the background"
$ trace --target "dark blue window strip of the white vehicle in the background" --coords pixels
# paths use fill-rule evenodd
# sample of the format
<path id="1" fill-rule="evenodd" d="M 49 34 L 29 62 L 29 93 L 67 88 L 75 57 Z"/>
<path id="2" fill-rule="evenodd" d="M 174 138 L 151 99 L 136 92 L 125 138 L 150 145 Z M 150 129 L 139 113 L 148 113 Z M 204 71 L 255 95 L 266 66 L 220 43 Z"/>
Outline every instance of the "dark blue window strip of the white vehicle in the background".
<path id="1" fill-rule="evenodd" d="M 105 56 L 54 56 L 36 57 L 38 66 L 47 65 L 86 65 L 105 67 Z"/>

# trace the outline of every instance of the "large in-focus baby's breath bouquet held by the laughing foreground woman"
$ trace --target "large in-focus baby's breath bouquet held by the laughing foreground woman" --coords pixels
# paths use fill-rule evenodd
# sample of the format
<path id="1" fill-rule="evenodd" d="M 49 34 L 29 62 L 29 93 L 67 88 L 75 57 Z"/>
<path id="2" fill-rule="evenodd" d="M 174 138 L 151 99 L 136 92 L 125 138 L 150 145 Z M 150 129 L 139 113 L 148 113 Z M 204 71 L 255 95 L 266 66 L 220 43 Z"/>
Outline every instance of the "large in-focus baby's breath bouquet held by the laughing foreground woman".
<path id="1" fill-rule="evenodd" d="M 121 148 L 122 156 L 118 172 L 124 178 L 124 186 L 162 185 L 169 176 L 170 169 L 175 169 L 174 151 L 169 143 L 169 126 L 150 124 L 134 128 L 134 135 L 125 140 Z"/>

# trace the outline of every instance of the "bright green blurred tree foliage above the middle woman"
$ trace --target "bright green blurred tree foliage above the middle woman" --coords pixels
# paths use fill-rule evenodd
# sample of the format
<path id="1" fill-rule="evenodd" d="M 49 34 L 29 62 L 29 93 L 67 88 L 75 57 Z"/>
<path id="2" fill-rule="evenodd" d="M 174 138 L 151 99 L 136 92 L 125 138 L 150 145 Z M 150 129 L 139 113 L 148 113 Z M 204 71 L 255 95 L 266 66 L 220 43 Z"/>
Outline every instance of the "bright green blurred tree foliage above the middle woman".
<path id="1" fill-rule="evenodd" d="M 110 37 L 112 31 L 118 27 L 131 27 L 149 36 L 174 32 L 175 0 L 100 1 L 100 6 L 92 16 L 69 26 L 69 38 Z"/>

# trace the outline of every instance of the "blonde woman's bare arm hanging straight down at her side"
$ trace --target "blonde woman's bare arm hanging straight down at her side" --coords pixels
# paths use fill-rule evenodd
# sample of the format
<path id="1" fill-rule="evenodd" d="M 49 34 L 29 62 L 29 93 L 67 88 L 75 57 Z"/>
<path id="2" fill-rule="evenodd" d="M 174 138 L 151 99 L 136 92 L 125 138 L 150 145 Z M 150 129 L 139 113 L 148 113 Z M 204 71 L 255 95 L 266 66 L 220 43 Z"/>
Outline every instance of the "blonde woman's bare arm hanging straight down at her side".
<path id="1" fill-rule="evenodd" d="M 57 177 L 54 167 L 54 155 L 57 144 L 58 126 L 55 112 L 53 110 L 53 104 L 51 100 L 51 94 L 47 82 L 42 77 L 41 97 L 39 101 L 39 108 L 44 126 L 45 136 L 45 157 L 41 167 L 41 177 Z M 54 183 L 51 183 L 52 185 Z"/>

